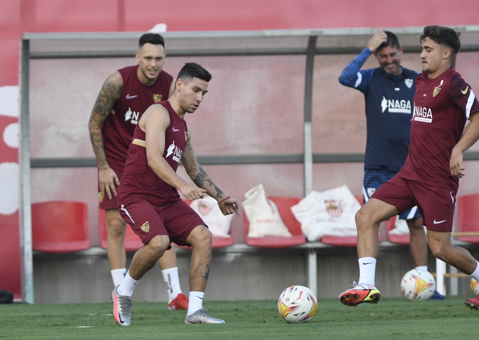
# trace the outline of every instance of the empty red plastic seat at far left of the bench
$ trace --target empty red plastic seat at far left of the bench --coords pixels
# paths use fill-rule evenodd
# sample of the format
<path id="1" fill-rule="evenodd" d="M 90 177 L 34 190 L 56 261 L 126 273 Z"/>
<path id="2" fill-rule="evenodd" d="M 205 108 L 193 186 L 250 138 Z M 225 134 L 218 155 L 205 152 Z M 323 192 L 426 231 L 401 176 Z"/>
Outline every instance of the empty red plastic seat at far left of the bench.
<path id="1" fill-rule="evenodd" d="M 34 250 L 48 253 L 89 248 L 87 204 L 74 201 L 33 203 L 32 238 Z"/>

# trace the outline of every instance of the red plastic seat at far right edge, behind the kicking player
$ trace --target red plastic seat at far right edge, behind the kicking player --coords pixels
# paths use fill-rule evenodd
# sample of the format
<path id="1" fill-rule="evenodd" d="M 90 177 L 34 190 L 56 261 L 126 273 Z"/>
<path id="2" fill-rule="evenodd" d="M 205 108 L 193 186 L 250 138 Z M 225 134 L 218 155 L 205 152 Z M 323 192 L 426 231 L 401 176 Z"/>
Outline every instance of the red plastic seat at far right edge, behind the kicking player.
<path id="1" fill-rule="evenodd" d="M 459 233 L 479 232 L 479 194 L 465 195 L 457 199 Z M 479 243 L 479 236 L 457 236 L 458 240 Z"/>

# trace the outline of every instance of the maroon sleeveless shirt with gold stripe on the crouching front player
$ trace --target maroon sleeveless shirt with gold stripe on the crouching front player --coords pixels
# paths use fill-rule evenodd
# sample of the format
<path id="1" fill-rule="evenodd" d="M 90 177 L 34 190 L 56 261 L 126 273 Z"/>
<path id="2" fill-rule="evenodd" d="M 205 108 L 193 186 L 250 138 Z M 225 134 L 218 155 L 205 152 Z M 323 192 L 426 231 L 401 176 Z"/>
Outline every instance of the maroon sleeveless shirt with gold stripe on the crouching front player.
<path id="1" fill-rule="evenodd" d="M 158 104 L 164 106 L 170 115 L 170 125 L 165 131 L 163 158 L 176 172 L 188 140 L 188 128 L 168 100 Z M 118 187 L 118 206 L 131 199 L 145 199 L 159 206 L 180 200 L 178 190 L 161 180 L 148 166 L 145 137 L 145 132 L 137 126 Z"/>

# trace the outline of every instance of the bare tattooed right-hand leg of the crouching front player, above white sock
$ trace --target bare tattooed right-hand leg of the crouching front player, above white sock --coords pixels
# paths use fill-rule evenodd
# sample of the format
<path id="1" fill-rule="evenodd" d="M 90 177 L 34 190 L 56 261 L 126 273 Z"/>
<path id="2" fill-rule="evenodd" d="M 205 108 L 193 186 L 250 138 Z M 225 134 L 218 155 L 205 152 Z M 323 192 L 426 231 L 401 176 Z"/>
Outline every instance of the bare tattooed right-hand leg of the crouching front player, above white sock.
<path id="1" fill-rule="evenodd" d="M 188 235 L 186 242 L 193 246 L 190 264 L 190 291 L 204 292 L 211 263 L 211 232 L 198 225 Z"/>

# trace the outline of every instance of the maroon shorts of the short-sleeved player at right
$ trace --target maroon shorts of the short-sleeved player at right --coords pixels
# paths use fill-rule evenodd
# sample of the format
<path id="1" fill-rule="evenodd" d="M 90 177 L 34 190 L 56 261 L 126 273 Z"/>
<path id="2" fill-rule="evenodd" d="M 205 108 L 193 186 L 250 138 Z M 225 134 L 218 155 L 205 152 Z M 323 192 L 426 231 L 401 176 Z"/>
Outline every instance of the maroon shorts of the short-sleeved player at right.
<path id="1" fill-rule="evenodd" d="M 399 213 L 417 205 L 421 211 L 422 223 L 428 230 L 452 231 L 456 194 L 448 189 L 396 175 L 380 186 L 371 198 L 394 205 Z"/>

